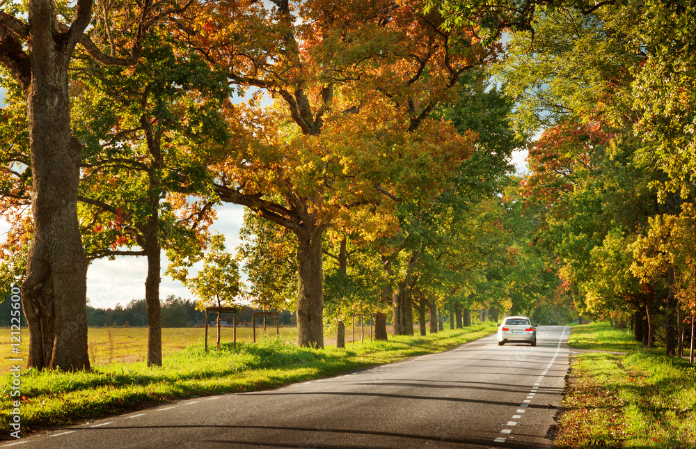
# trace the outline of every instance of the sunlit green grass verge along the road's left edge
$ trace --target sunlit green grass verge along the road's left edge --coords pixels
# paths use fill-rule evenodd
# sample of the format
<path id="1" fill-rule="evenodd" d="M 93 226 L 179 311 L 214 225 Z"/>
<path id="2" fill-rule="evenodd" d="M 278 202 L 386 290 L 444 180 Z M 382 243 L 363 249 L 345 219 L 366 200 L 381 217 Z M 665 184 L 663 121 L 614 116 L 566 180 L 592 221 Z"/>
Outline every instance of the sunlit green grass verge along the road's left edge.
<path id="1" fill-rule="evenodd" d="M 202 342 L 164 357 L 160 368 L 144 362 L 97 365 L 89 372 L 22 372 L 22 432 L 86 418 L 123 413 L 187 397 L 278 388 L 355 368 L 391 363 L 409 356 L 450 349 L 495 331 L 493 323 L 429 336 L 356 342 L 346 349 L 301 348 L 283 338 L 254 345 L 231 342 L 203 351 Z M 357 333 L 356 333 L 357 336 Z M 0 430 L 8 432 L 10 375 L 2 375 Z"/>

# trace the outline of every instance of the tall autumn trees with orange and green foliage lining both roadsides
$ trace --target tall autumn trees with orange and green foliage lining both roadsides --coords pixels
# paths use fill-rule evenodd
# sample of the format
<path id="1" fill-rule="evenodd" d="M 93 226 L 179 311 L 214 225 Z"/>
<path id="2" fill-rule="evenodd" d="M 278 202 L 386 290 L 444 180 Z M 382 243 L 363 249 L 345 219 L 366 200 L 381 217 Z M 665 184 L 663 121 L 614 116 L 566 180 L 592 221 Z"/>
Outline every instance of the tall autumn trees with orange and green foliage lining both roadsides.
<path id="1" fill-rule="evenodd" d="M 444 308 L 564 320 L 571 298 L 641 304 L 654 333 L 666 297 L 670 329 L 694 308 L 693 15 L 555 3 L 0 3 L 0 263 L 24 279 L 29 365 L 89 368 L 86 269 L 116 255 L 148 258 L 161 364 L 161 251 L 202 299 L 239 290 L 208 232 L 220 202 L 248 208 L 247 294 L 295 307 L 300 345 L 349 315 L 387 338 L 389 312 L 413 333 L 414 310 L 425 332 L 425 310 L 433 331 Z M 519 189 L 509 155 L 539 126 Z M 187 279 L 204 257 L 226 287 Z"/>

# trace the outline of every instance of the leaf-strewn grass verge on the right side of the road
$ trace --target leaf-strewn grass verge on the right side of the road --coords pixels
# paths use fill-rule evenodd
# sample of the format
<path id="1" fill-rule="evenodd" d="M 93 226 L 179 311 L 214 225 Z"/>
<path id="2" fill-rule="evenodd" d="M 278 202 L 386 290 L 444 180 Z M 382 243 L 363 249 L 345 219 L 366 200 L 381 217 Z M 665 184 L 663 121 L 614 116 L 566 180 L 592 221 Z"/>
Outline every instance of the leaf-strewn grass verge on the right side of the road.
<path id="1" fill-rule="evenodd" d="M 624 333 L 590 324 L 571 338 L 574 347 L 620 351 L 631 349 Z M 632 349 L 574 359 L 557 448 L 696 448 L 696 368 L 664 349 Z"/>

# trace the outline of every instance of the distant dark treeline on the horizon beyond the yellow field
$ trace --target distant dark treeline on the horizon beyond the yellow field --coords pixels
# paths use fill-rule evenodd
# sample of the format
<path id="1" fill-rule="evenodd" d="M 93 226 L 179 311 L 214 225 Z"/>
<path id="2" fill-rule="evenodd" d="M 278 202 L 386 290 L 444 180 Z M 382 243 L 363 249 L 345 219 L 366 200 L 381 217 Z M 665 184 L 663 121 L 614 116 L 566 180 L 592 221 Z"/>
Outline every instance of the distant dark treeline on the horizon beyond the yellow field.
<path id="1" fill-rule="evenodd" d="M 252 308 L 241 308 L 237 311 L 237 324 L 251 326 Z M 196 301 L 168 296 L 162 301 L 162 327 L 191 327 L 205 324 L 205 313 L 196 310 Z M 5 318 L 5 315 L 2 315 Z M 209 315 L 209 322 L 214 322 L 216 315 Z M 232 314 L 223 313 L 221 320 L 232 325 Z M 287 310 L 280 312 L 280 325 L 290 326 L 297 323 L 294 313 Z M 262 323 L 262 318 L 257 318 L 257 324 Z M 271 324 L 269 318 L 269 324 Z M 275 322 L 272 322 L 275 325 Z M 116 304 L 115 308 L 94 308 L 87 306 L 88 326 L 147 326 L 148 314 L 145 299 L 133 299 L 127 306 Z"/>

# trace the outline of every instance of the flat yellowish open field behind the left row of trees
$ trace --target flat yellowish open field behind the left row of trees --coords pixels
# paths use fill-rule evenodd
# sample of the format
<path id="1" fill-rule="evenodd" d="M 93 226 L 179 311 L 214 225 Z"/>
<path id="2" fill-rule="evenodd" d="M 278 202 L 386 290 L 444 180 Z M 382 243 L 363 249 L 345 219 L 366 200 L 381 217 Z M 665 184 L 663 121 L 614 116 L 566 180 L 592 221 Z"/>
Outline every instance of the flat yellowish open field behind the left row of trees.
<path id="1" fill-rule="evenodd" d="M 297 340 L 296 327 L 280 327 L 280 336 L 283 340 L 294 342 Z M 263 329 L 256 328 L 256 338 L 260 339 Z M 387 328 L 391 332 L 391 328 Z M 418 329 L 416 329 L 418 332 Z M 267 328 L 269 336 L 276 336 L 276 328 Z M 205 328 L 165 328 L 162 329 L 162 355 L 168 356 L 190 345 L 203 345 Z M 231 342 L 233 329 L 223 327 L 221 329 L 220 341 L 222 343 Z M 88 330 L 88 347 L 90 363 L 93 366 L 108 365 L 109 363 L 135 363 L 143 362 L 148 354 L 148 328 L 146 327 L 90 327 Z M 335 334 L 324 337 L 326 346 L 336 344 Z M 361 339 L 361 328 L 356 326 L 355 338 Z M 370 341 L 370 326 L 364 328 L 364 339 Z M 237 327 L 237 342 L 253 341 L 253 329 L 251 327 Z M 346 344 L 353 341 L 353 333 L 350 327 L 346 328 Z M 215 347 L 216 329 L 208 328 L 208 346 Z M 26 359 L 29 351 L 29 331 L 22 330 L 22 345 L 19 356 L 10 354 L 10 329 L 0 329 L 0 348 L 5 344 L 6 351 L 2 352 L 0 358 L 0 374 L 8 372 L 10 369 L 9 359 L 24 359 L 23 366 L 26 367 Z"/>

